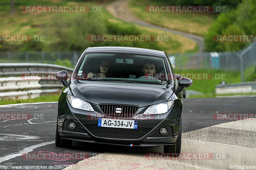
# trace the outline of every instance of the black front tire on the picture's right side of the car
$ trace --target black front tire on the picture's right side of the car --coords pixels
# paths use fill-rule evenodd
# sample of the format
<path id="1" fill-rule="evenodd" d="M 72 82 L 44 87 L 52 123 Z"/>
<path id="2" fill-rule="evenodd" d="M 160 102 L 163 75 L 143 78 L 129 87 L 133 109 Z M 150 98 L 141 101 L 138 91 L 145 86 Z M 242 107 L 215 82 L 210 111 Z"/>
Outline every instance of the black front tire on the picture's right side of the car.
<path id="1" fill-rule="evenodd" d="M 174 145 L 164 145 L 164 153 L 172 153 L 173 157 L 179 157 L 181 151 L 181 130 L 182 130 L 182 123 L 180 119 L 180 128 L 177 140 Z"/>

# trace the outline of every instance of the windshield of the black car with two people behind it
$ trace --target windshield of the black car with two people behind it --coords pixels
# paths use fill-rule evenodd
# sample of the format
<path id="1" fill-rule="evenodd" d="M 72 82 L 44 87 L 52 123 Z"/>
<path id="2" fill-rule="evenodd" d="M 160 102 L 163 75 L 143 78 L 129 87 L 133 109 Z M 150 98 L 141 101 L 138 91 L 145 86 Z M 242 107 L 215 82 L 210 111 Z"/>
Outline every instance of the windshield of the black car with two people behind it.
<path id="1" fill-rule="evenodd" d="M 129 53 L 87 53 L 75 79 L 167 85 L 163 57 Z"/>

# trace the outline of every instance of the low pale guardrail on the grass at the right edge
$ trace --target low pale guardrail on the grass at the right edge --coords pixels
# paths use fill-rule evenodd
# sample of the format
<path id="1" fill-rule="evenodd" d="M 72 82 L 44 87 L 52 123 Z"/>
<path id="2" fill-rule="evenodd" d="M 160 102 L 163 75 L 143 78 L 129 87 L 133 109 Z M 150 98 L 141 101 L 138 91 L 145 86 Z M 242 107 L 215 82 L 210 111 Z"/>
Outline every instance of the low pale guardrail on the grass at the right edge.
<path id="1" fill-rule="evenodd" d="M 256 82 L 241 82 L 241 83 L 216 85 L 215 93 L 216 94 L 256 93 Z"/>

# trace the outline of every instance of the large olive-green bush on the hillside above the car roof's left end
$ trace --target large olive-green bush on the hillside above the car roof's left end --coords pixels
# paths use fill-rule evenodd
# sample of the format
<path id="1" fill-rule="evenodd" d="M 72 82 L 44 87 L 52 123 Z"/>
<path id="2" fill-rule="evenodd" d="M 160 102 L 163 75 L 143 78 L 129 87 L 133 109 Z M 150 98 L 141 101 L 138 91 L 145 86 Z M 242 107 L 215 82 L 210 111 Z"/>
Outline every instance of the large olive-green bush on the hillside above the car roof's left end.
<path id="1" fill-rule="evenodd" d="M 95 13 L 68 13 L 55 15 L 48 24 L 47 32 L 55 38 L 50 50 L 83 51 L 93 45 L 88 35 L 106 33 L 105 21 Z"/>

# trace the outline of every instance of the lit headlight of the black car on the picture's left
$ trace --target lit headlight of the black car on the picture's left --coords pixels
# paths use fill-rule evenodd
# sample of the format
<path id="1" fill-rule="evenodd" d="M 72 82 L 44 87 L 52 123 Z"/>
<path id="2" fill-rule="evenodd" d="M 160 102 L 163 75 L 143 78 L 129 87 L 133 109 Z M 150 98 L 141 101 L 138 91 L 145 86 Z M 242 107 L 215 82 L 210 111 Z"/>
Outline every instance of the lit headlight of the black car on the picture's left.
<path id="1" fill-rule="evenodd" d="M 67 95 L 67 99 L 69 104 L 76 109 L 94 112 L 94 109 L 92 108 L 90 103 L 88 103 L 87 101 L 71 96 L 69 94 Z"/>

